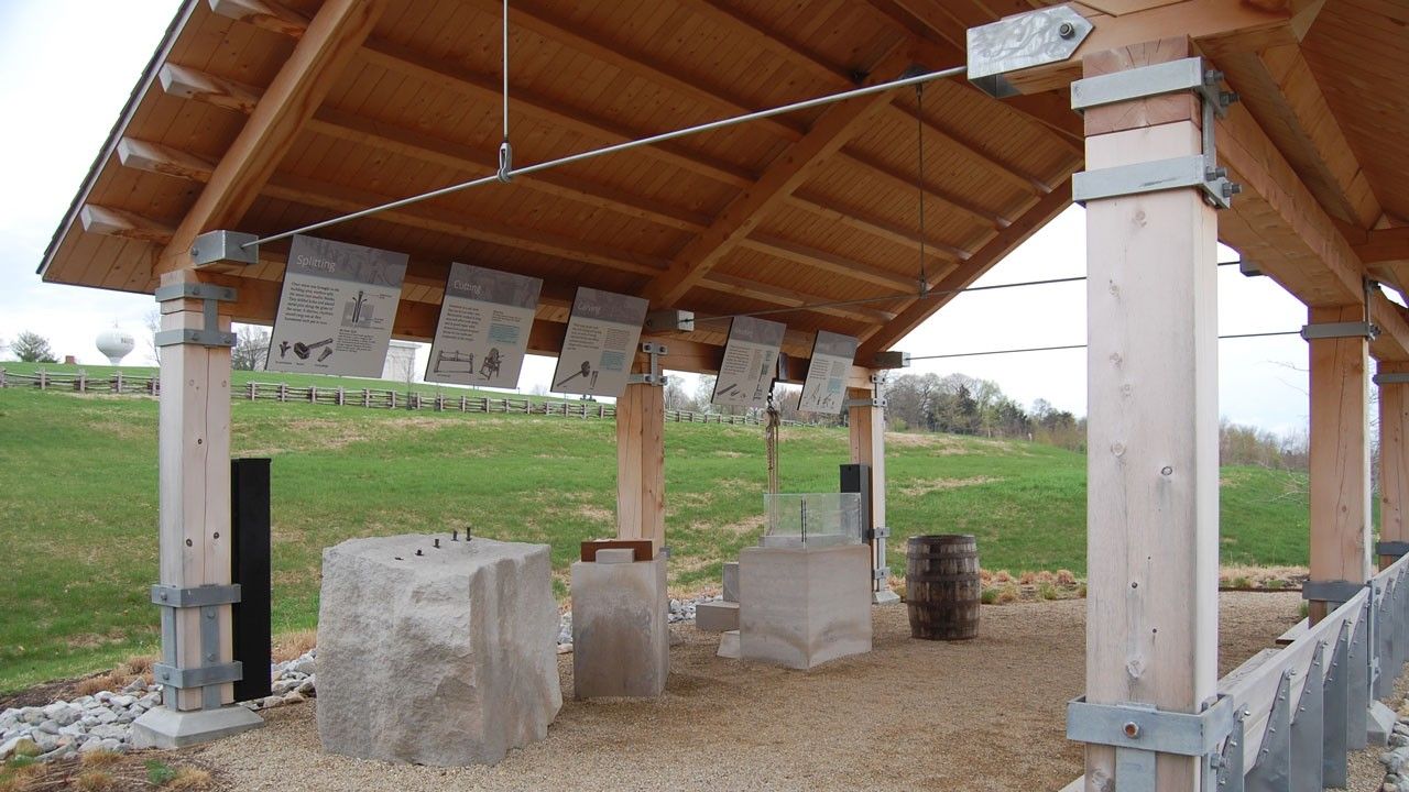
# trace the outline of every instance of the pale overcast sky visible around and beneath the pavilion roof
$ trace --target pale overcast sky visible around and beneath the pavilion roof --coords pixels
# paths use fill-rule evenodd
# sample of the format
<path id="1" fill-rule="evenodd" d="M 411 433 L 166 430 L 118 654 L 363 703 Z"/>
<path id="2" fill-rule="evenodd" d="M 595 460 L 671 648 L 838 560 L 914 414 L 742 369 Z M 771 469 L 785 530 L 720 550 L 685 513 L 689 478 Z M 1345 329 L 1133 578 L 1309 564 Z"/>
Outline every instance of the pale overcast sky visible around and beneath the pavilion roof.
<path id="1" fill-rule="evenodd" d="M 145 337 L 151 297 L 39 282 L 35 269 L 123 103 L 155 51 L 175 0 L 0 0 L 0 338 L 46 335 L 58 355 L 101 364 L 93 338 L 121 326 Z M 1222 249 L 1223 259 L 1236 254 Z M 1071 209 L 979 285 L 1085 272 L 1082 211 Z M 1219 333 L 1296 330 L 1305 310 L 1275 283 L 1237 268 L 1219 275 Z M 914 355 L 1085 342 L 1082 283 L 961 295 L 898 345 Z M 145 364 L 139 342 L 128 364 Z M 1286 433 L 1305 426 L 1306 344 L 1296 337 L 1219 345 L 1220 412 Z M 1023 404 L 1047 399 L 1086 412 L 1085 351 L 1027 352 L 917 362 L 917 372 L 996 380 Z M 423 358 L 424 361 L 424 358 Z M 524 390 L 545 383 L 551 361 L 524 366 Z"/>

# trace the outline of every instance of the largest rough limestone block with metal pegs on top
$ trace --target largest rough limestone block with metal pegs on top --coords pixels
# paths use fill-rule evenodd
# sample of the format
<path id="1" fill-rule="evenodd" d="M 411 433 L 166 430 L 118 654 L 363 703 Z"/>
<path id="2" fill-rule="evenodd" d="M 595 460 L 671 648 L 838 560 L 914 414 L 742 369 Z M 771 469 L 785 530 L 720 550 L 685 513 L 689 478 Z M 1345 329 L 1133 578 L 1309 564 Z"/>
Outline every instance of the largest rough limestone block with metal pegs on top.
<path id="1" fill-rule="evenodd" d="M 440 544 L 396 536 L 323 551 L 324 750 L 448 767 L 547 737 L 562 706 L 548 545 Z"/>

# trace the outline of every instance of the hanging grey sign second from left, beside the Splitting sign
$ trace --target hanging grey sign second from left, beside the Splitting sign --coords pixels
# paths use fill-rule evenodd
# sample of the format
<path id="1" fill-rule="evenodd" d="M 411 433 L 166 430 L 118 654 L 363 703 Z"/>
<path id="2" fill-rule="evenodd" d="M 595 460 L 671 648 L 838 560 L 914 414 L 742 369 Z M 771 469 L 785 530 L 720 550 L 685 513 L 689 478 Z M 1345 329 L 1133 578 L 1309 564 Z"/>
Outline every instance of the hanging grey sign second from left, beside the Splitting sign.
<path id="1" fill-rule="evenodd" d="M 542 280 L 452 264 L 426 382 L 516 388 Z"/>

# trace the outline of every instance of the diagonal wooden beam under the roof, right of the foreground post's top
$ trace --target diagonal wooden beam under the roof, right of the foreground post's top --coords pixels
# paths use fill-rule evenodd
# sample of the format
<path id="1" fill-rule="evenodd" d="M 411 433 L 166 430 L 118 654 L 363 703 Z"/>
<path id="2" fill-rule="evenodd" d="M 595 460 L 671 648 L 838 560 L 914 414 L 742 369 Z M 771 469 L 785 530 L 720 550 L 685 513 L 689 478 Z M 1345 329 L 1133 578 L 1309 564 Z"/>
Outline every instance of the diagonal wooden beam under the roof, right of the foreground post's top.
<path id="1" fill-rule="evenodd" d="M 1322 207 L 1337 220 L 1374 227 L 1384 209 L 1301 48 L 1209 55 Z"/>

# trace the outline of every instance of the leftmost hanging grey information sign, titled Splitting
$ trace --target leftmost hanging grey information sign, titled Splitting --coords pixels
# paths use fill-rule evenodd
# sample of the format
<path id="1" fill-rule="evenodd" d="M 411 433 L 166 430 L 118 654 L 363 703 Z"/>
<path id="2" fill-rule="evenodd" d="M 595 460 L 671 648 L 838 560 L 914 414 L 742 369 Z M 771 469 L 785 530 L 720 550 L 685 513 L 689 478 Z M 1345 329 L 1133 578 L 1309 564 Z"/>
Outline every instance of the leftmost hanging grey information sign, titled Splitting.
<path id="1" fill-rule="evenodd" d="M 269 371 L 382 376 L 406 254 L 294 237 Z"/>

